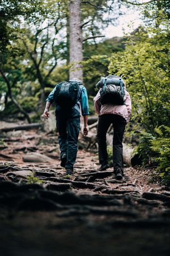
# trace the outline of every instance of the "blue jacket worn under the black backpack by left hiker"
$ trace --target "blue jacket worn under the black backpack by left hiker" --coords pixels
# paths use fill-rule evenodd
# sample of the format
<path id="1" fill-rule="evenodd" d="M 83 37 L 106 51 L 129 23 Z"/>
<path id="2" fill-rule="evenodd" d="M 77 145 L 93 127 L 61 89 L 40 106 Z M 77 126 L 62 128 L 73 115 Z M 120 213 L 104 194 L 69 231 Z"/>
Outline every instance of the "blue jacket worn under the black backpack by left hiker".
<path id="1" fill-rule="evenodd" d="M 46 98 L 46 101 L 49 101 L 51 104 L 54 101 L 54 92 L 56 91 L 56 87 L 57 87 L 57 85 L 54 87 L 52 92 L 50 92 L 49 96 Z M 76 102 L 75 106 L 73 107 L 73 109 L 76 110 L 76 112 L 78 112 L 79 114 L 80 114 L 80 106 L 82 109 L 82 115 L 88 115 L 89 110 L 88 110 L 87 90 L 82 84 L 79 84 L 78 101 Z M 56 109 L 57 110 L 61 109 L 61 106 L 56 106 Z"/>

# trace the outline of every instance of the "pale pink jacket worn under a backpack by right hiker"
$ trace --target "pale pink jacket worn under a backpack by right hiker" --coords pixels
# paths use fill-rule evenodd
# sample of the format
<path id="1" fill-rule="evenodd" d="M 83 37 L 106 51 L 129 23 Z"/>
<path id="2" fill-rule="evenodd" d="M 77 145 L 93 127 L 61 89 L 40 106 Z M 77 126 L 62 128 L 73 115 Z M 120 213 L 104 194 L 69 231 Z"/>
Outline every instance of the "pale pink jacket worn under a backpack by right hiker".
<path id="1" fill-rule="evenodd" d="M 100 104 L 100 90 L 97 93 L 96 97 L 94 98 L 95 112 L 99 115 L 104 115 L 104 114 L 121 115 L 128 122 L 130 119 L 130 115 L 131 115 L 131 100 L 130 100 L 130 95 L 127 92 L 127 90 L 125 90 L 125 97 L 124 97 L 125 105 L 111 105 L 111 104 L 101 105 Z"/>

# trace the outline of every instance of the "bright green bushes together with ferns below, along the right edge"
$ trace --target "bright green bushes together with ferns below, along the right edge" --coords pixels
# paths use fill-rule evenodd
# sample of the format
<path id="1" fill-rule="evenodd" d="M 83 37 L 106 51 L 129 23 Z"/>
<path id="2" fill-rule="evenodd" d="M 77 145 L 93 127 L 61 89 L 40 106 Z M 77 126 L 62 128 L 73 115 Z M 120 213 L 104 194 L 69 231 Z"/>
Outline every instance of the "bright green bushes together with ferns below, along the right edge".
<path id="1" fill-rule="evenodd" d="M 125 51 L 111 56 L 109 73 L 124 78 L 133 104 L 131 124 L 133 129 L 144 130 L 138 146 L 143 164 L 158 166 L 159 175 L 168 181 L 170 34 L 165 13 L 165 9 L 160 10 L 151 3 L 147 14 L 152 15 L 146 16 L 152 26 L 139 27 L 130 34 Z"/>

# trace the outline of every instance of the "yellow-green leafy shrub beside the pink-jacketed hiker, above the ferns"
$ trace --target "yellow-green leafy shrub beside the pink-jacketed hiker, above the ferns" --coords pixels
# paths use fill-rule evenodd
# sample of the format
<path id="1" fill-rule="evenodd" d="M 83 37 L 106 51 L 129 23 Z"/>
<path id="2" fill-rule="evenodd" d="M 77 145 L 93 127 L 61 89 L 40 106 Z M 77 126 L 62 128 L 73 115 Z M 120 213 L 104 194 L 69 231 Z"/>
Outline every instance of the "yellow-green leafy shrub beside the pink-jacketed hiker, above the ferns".
<path id="1" fill-rule="evenodd" d="M 113 54 L 109 73 L 121 75 L 133 103 L 132 120 L 148 133 L 169 123 L 169 28 L 162 16 L 158 27 L 139 28 L 129 37 L 124 52 Z"/>

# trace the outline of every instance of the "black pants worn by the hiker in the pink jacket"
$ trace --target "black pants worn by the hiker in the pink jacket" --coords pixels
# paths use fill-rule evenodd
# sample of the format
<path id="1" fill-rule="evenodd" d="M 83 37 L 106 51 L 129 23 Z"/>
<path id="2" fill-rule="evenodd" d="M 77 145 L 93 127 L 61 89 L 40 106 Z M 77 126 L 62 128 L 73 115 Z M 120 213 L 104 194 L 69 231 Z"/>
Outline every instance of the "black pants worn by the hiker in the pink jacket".
<path id="1" fill-rule="evenodd" d="M 99 144 L 99 163 L 108 164 L 107 140 L 106 135 L 109 126 L 113 124 L 113 168 L 114 171 L 119 168 L 123 171 L 123 148 L 122 139 L 124 136 L 126 120 L 121 115 L 104 114 L 100 115 L 97 127 L 97 141 Z"/>

